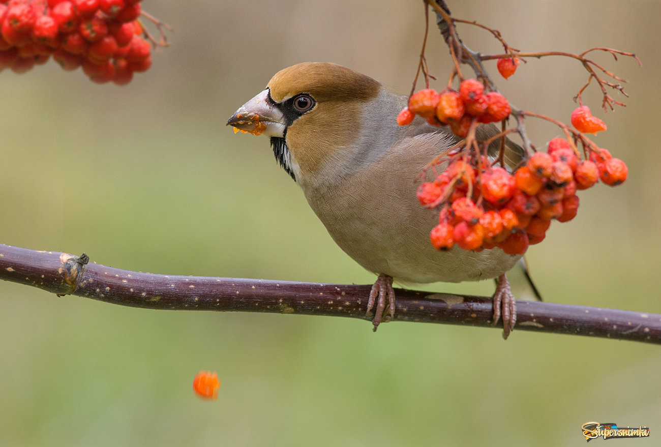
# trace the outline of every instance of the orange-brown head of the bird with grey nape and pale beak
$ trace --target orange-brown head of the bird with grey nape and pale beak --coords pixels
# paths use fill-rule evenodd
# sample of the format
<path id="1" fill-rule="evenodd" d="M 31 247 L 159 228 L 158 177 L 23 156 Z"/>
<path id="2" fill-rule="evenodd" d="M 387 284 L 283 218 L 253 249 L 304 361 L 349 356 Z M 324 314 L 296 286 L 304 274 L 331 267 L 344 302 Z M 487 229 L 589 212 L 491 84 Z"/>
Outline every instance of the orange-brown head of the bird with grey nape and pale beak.
<path id="1" fill-rule="evenodd" d="M 395 117 L 406 101 L 341 65 L 299 63 L 278 71 L 227 125 L 269 136 L 280 165 L 303 186 L 373 162 L 399 138 Z"/>

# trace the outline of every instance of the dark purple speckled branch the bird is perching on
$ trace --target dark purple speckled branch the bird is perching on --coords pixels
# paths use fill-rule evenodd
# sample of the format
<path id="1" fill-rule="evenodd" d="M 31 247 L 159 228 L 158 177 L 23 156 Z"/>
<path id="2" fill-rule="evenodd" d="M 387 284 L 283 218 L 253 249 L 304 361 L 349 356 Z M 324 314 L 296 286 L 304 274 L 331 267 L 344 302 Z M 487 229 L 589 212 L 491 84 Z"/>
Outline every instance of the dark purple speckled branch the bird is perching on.
<path id="1" fill-rule="evenodd" d="M 209 278 L 120 270 L 87 256 L 0 244 L 0 279 L 145 309 L 365 315 L 370 286 Z M 490 298 L 395 289 L 395 321 L 493 327 Z M 661 315 L 518 301 L 515 329 L 661 344 Z M 371 327 L 371 323 L 369 325 Z"/>

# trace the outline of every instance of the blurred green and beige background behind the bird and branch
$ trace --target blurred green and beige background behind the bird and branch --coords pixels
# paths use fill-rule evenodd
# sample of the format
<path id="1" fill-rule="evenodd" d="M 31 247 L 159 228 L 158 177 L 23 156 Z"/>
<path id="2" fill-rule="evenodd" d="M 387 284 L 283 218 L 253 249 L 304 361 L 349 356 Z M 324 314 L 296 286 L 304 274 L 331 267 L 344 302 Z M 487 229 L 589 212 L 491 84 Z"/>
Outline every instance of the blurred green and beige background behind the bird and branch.
<path id="1" fill-rule="evenodd" d="M 629 181 L 580 194 L 578 218 L 528 252 L 546 300 L 661 313 L 657 255 L 658 1 L 451 1 L 525 51 L 636 52 L 617 63 L 626 108 L 596 138 Z M 279 69 L 333 61 L 408 93 L 420 1 L 145 1 L 176 32 L 126 87 L 49 62 L 0 75 L 0 241 L 170 274 L 373 282 L 338 249 L 266 138 L 225 121 Z M 461 26 L 469 46 L 500 52 Z M 449 58 L 432 28 L 436 87 Z M 490 63 L 495 73 L 494 63 Z M 496 74 L 496 79 L 500 79 Z M 568 120 L 580 64 L 531 60 L 501 91 Z M 542 144 L 557 128 L 529 122 Z M 492 282 L 433 290 L 491 294 Z M 588 421 L 661 427 L 659 346 L 499 330 L 149 311 L 0 283 L 2 446 L 584 445 Z M 217 370 L 218 401 L 198 399 Z M 598 441 L 598 442 L 603 442 Z"/>

